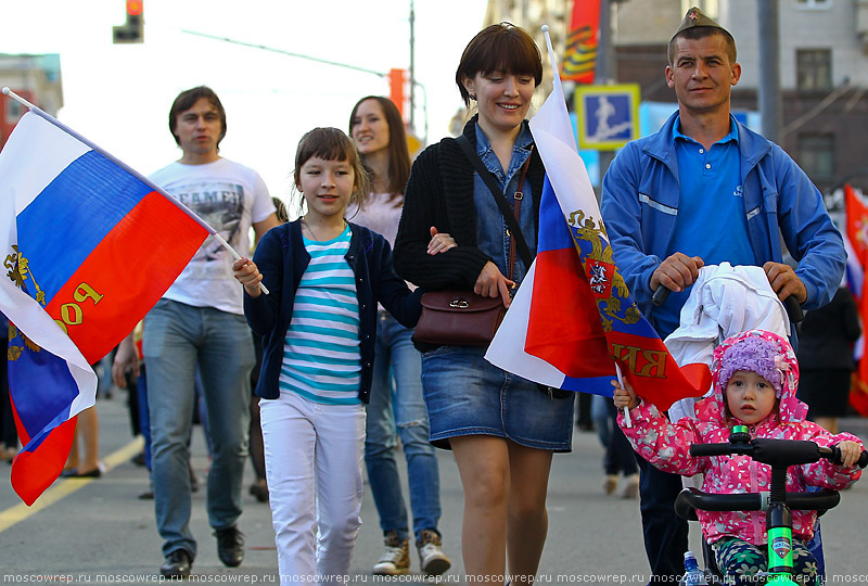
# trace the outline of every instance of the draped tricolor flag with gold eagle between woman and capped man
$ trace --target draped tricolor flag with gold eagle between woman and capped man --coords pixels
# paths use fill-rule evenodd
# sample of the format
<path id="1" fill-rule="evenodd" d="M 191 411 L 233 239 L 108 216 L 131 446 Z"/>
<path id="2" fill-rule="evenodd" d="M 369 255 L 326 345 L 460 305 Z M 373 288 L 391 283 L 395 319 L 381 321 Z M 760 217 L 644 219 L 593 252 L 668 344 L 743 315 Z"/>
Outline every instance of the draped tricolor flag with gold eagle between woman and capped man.
<path id="1" fill-rule="evenodd" d="M 707 366 L 678 367 L 618 273 L 557 76 L 531 131 L 546 167 L 537 256 L 485 357 L 537 383 L 605 396 L 617 360 L 663 410 L 703 395 Z"/>

